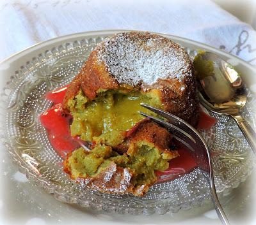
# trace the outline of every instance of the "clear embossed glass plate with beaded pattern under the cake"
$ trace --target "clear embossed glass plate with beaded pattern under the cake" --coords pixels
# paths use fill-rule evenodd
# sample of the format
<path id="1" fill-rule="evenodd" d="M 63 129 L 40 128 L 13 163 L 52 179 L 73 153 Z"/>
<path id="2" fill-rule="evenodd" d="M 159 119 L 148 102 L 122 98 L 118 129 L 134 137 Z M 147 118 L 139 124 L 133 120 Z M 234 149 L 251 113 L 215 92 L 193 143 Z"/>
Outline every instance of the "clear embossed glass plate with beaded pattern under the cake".
<path id="1" fill-rule="evenodd" d="M 32 47 L 30 55 L 33 57 L 23 66 L 16 62 L 20 68 L 17 67 L 17 71 L 10 75 L 10 81 L 1 94 L 2 106 L 6 109 L 2 116 L 1 139 L 20 171 L 26 173 L 31 182 L 67 203 L 119 214 L 165 214 L 202 205 L 210 200 L 210 194 L 207 181 L 199 169 L 170 182 L 153 185 L 143 197 L 102 194 L 83 189 L 62 171 L 62 159 L 52 149 L 47 133 L 38 121 L 38 115 L 51 106 L 44 94 L 70 83 L 97 43 L 117 32 L 61 37 L 55 43 L 45 42 L 44 47 L 37 47 L 37 52 L 41 50 L 39 55 L 33 55 Z M 195 55 L 195 51 L 189 48 L 191 43 L 198 48 L 209 48 L 182 38 L 168 37 L 181 43 L 191 57 Z M 218 50 L 214 51 L 221 55 Z M 232 61 L 238 60 L 232 55 L 229 58 L 227 54 L 224 56 Z M 255 99 L 249 90 L 244 116 L 252 126 L 256 121 Z M 221 196 L 228 194 L 248 177 L 255 165 L 255 156 L 234 120 L 224 115 L 211 115 L 218 122 L 202 134 L 211 148 L 216 190 Z"/>

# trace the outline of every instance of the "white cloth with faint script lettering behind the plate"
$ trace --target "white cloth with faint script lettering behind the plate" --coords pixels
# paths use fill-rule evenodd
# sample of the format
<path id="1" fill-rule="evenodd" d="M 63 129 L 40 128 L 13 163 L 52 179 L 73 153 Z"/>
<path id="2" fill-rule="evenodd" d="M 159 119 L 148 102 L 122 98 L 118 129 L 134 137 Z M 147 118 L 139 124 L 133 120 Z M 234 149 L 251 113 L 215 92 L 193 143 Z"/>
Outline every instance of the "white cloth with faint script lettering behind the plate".
<path id="1" fill-rule="evenodd" d="M 0 60 L 39 41 L 100 29 L 169 33 L 256 64 L 256 31 L 210 0 L 4 0 L 0 3 Z"/>

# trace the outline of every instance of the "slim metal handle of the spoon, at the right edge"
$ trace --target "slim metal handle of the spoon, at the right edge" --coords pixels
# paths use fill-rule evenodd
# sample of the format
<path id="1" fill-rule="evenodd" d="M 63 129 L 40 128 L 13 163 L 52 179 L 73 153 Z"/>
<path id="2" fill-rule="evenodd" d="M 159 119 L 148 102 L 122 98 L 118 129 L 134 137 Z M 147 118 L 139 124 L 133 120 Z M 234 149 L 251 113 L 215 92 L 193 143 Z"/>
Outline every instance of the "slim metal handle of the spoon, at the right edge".
<path id="1" fill-rule="evenodd" d="M 256 133 L 255 133 L 255 131 L 248 124 L 248 122 L 243 119 L 243 117 L 241 115 L 234 115 L 232 117 L 236 120 L 236 122 L 237 122 L 238 126 L 240 127 L 241 131 L 243 132 L 247 142 L 249 143 L 253 152 L 256 154 Z"/>

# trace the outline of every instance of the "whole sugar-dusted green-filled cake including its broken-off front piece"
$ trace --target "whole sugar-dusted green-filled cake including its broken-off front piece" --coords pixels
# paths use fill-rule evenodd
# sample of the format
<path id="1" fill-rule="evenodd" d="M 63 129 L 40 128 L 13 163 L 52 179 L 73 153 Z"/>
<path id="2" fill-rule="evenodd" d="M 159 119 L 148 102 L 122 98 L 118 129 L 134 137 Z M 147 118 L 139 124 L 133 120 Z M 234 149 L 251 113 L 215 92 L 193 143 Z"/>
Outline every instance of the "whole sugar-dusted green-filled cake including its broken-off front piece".
<path id="1" fill-rule="evenodd" d="M 64 171 L 109 194 L 143 195 L 156 171 L 179 156 L 172 134 L 138 113 L 145 112 L 140 103 L 198 123 L 193 64 L 177 43 L 156 34 L 119 33 L 102 41 L 66 91 L 61 109 L 72 116 L 71 136 L 92 150 L 69 152 Z"/>

